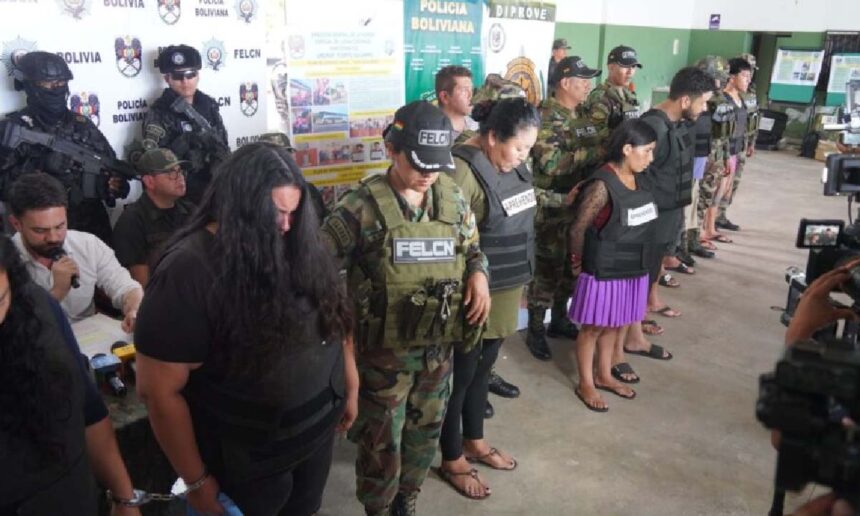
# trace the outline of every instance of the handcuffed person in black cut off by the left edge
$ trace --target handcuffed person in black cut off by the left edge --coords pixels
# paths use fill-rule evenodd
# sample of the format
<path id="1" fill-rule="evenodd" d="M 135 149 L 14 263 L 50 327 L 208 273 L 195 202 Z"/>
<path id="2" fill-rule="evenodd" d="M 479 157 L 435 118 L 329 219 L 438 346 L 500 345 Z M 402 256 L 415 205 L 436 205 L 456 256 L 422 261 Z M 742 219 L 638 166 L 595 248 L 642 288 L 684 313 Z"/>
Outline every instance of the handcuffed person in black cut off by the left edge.
<path id="1" fill-rule="evenodd" d="M 0 514 L 96 514 L 93 472 L 114 499 L 135 498 L 66 316 L 0 235 Z"/>

